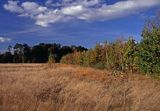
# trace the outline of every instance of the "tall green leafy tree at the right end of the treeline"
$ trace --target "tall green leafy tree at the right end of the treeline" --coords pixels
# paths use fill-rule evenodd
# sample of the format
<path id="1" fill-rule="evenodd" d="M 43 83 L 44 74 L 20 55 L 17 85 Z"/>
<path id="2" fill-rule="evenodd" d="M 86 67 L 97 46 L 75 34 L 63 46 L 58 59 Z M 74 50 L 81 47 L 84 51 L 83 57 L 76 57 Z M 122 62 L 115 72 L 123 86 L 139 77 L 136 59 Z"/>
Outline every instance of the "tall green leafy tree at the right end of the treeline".
<path id="1" fill-rule="evenodd" d="M 160 18 L 148 21 L 138 46 L 138 65 L 145 73 L 160 72 Z"/>

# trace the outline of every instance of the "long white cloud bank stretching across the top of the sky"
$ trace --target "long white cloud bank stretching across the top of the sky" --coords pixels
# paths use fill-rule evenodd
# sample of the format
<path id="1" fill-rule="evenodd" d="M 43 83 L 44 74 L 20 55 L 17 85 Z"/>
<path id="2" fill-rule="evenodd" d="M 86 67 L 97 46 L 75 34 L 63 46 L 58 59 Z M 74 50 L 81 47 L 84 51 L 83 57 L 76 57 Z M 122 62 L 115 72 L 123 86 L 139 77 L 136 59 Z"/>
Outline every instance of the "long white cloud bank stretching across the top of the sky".
<path id="1" fill-rule="evenodd" d="M 45 5 L 36 2 L 8 1 L 4 8 L 19 16 L 35 20 L 35 24 L 47 27 L 49 24 L 80 19 L 102 21 L 136 14 L 143 9 L 160 5 L 159 0 L 125 0 L 108 4 L 106 0 L 47 0 Z"/>

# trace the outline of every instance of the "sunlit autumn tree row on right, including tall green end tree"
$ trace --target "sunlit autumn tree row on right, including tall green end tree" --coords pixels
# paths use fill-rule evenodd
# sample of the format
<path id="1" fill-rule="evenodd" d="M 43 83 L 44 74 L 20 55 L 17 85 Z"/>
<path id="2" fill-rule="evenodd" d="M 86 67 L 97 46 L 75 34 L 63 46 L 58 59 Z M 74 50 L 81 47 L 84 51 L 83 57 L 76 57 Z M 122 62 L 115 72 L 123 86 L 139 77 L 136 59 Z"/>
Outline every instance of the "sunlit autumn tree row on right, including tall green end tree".
<path id="1" fill-rule="evenodd" d="M 146 22 L 139 43 L 133 37 L 105 42 L 85 52 L 68 54 L 61 62 L 112 71 L 160 74 L 160 15 Z"/>

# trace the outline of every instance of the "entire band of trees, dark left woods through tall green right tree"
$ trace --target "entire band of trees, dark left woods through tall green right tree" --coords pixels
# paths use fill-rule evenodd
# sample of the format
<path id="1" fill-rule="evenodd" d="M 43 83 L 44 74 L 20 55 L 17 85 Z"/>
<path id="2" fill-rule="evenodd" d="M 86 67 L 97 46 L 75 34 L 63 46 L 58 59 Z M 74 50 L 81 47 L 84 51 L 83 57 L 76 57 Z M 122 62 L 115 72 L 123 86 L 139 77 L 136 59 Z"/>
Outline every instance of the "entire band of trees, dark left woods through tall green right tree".
<path id="1" fill-rule="evenodd" d="M 101 69 L 160 73 L 160 17 L 148 20 L 142 31 L 142 39 L 136 42 L 117 39 L 114 42 L 96 44 L 95 48 L 61 46 L 60 44 L 16 44 L 0 54 L 0 63 L 51 63 L 78 64 Z"/>

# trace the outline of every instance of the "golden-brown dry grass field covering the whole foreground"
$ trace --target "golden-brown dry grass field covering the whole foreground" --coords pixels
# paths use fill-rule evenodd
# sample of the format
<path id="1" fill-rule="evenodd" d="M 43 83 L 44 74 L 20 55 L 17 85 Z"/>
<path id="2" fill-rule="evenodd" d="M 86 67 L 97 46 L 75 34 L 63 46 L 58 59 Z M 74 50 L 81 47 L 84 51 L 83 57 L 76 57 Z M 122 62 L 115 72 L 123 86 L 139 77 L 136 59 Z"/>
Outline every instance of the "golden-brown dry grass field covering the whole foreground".
<path id="1" fill-rule="evenodd" d="M 1 64 L 0 111 L 160 111 L 160 82 L 73 65 Z"/>

